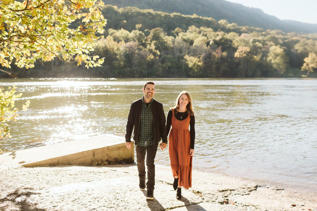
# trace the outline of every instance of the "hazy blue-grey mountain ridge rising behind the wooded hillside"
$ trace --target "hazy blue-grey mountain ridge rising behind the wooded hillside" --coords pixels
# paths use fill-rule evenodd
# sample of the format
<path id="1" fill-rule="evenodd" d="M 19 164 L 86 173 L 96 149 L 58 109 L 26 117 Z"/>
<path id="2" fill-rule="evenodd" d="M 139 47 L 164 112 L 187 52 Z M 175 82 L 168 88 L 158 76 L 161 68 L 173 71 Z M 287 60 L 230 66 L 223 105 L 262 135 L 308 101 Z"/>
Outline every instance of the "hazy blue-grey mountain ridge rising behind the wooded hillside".
<path id="1" fill-rule="evenodd" d="M 236 23 L 239 26 L 277 29 L 283 32 L 317 33 L 317 24 L 280 20 L 275 16 L 265 14 L 261 9 L 225 0 L 104 0 L 104 3 L 116 5 L 119 8 L 131 6 L 167 13 L 197 14 L 212 17 L 216 21 L 225 19 L 229 23 Z"/>

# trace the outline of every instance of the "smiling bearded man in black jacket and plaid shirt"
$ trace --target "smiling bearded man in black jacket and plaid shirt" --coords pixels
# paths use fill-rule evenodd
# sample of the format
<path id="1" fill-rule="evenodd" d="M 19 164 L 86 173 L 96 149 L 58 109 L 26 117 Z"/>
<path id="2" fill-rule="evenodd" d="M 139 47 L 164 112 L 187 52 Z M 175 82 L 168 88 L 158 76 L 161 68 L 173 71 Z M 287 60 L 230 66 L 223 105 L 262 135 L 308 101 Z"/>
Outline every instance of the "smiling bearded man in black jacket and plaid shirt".
<path id="1" fill-rule="evenodd" d="M 166 148 L 167 136 L 165 129 L 165 114 L 162 103 L 153 99 L 155 84 L 147 82 L 144 84 L 143 97 L 132 102 L 128 121 L 126 124 L 126 147 L 131 149 L 131 134 L 136 145 L 137 167 L 139 171 L 139 188 L 145 190 L 146 199 L 153 199 L 155 165 L 154 158 L 159 141 L 162 139 L 160 148 Z M 147 182 L 145 184 L 145 154 L 147 166 Z"/>

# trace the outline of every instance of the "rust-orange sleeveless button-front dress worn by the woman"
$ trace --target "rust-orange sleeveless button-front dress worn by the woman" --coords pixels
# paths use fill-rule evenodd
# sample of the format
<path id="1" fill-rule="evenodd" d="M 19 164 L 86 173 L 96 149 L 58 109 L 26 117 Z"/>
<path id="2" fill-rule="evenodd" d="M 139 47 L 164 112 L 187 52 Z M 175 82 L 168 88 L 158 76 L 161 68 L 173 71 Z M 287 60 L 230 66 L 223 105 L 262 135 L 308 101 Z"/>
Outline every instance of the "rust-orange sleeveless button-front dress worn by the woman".
<path id="1" fill-rule="evenodd" d="M 191 135 L 189 131 L 190 115 L 186 119 L 179 121 L 172 110 L 171 126 L 169 135 L 168 153 L 171 160 L 173 177 L 178 176 L 178 186 L 191 188 L 192 158 Z"/>

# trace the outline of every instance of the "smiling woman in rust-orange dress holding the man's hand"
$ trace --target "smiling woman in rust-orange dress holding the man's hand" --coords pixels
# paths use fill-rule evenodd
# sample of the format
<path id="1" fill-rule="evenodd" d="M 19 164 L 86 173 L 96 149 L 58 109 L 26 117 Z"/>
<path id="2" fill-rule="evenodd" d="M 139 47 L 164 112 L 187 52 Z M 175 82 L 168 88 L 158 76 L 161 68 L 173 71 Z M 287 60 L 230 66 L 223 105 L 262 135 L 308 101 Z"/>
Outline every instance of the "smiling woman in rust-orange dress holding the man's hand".
<path id="1" fill-rule="evenodd" d="M 169 132 L 168 152 L 174 177 L 173 188 L 177 189 L 176 198 L 181 199 L 181 188 L 191 188 L 192 155 L 195 143 L 195 113 L 191 95 L 187 91 L 182 91 L 178 95 L 175 106 L 168 111 L 167 135 Z"/>

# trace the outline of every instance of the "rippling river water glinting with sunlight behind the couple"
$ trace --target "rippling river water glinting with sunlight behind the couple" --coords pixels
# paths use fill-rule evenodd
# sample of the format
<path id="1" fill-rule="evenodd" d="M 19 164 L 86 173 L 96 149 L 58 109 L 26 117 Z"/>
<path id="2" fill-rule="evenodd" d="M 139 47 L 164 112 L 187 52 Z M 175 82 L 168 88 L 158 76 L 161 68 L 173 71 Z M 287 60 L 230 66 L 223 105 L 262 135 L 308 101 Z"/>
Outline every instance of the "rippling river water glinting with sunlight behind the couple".
<path id="1" fill-rule="evenodd" d="M 132 101 L 149 79 L 0 79 L 31 104 L 4 151 L 104 133 L 125 135 Z M 193 167 L 317 192 L 316 79 L 154 78 L 165 114 L 187 90 L 196 112 Z M 156 164 L 169 164 L 158 150 Z"/>

